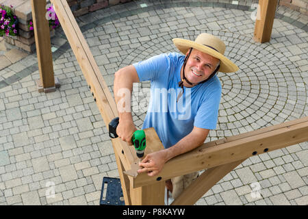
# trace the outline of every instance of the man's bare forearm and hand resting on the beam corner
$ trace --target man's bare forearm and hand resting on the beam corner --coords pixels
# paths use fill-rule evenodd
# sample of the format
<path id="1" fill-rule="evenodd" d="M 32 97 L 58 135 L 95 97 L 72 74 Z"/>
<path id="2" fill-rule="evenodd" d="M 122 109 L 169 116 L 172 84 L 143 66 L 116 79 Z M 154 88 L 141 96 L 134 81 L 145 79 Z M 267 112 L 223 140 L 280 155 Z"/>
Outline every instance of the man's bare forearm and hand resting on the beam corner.
<path id="1" fill-rule="evenodd" d="M 192 129 L 187 136 L 179 140 L 177 144 L 168 149 L 146 155 L 146 157 L 144 157 L 142 162 L 139 164 L 139 166 L 143 168 L 138 170 L 138 173 L 148 172 L 150 177 L 157 175 L 169 159 L 176 157 L 177 155 L 181 155 L 182 153 L 192 151 L 193 149 L 196 149 L 196 147 L 201 146 L 201 144 L 205 142 L 208 134 L 209 129 L 194 127 L 194 129 Z"/>

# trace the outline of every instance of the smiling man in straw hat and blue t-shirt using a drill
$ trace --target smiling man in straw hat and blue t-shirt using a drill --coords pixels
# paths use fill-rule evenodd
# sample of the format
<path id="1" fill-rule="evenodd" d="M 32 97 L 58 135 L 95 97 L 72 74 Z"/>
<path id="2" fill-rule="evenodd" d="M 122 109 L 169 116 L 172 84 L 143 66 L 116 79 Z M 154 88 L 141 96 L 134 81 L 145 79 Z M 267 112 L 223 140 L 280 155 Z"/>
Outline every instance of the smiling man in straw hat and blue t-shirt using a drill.
<path id="1" fill-rule="evenodd" d="M 130 109 L 131 101 L 120 101 L 120 89 L 132 92 L 133 83 L 151 81 L 151 99 L 142 129 L 154 127 L 165 147 L 146 155 L 138 172 L 157 175 L 164 164 L 177 155 L 191 151 L 205 142 L 210 129 L 216 129 L 221 85 L 216 73 L 238 70 L 227 57 L 222 40 L 200 34 L 195 41 L 175 38 L 179 53 L 161 54 L 149 60 L 121 68 L 114 79 L 114 94 L 119 111 L 118 136 L 129 143 L 136 131 Z M 176 95 L 175 95 L 176 94 Z M 127 97 L 127 96 L 126 96 Z M 119 105 L 119 103 L 121 103 Z M 173 198 L 181 194 L 198 172 L 166 181 Z"/>

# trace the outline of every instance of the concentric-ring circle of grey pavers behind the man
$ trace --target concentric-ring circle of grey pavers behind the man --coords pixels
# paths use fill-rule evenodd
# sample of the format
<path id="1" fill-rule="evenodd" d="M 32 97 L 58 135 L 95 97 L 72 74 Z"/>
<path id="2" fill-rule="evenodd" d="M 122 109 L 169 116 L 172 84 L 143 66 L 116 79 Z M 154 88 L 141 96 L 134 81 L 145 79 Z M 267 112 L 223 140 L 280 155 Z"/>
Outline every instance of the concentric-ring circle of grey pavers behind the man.
<path id="1" fill-rule="evenodd" d="M 194 18 L 198 20 L 198 16 Z M 114 23 L 117 22 L 114 21 Z M 119 68 L 160 53 L 179 52 L 172 44 L 172 38 L 194 40 L 202 32 L 196 30 L 197 26 L 190 26 L 192 31 L 186 28 L 170 31 L 171 28 L 168 27 L 166 31 L 159 31 L 160 36 L 158 34 L 151 36 L 150 40 L 149 36 L 142 36 L 142 33 L 149 32 L 149 29 L 146 27 L 142 29 L 144 31 L 140 32 L 141 36 L 138 39 L 149 39 L 140 42 L 138 47 L 127 50 L 129 51 L 127 55 L 118 57 L 119 62 L 114 64 Z M 209 140 L 276 125 L 303 115 L 306 98 L 305 83 L 303 78 L 296 77 L 300 75 L 299 71 L 287 55 L 274 49 L 269 43 L 254 42 L 251 36 L 228 31 L 207 30 L 206 32 L 218 36 L 225 42 L 227 46 L 225 55 L 240 68 L 237 73 L 218 73 L 222 83 L 222 99 L 218 127 L 210 132 Z M 121 35 L 120 32 L 118 34 Z M 118 44 L 121 43 L 123 40 L 118 41 Z M 112 70 L 107 72 L 113 74 Z M 149 87 L 149 82 L 142 82 L 142 84 L 146 88 Z M 299 90 L 298 85 L 300 85 Z M 145 92 L 149 92 L 149 89 Z M 149 101 L 149 94 L 141 94 L 143 97 L 147 96 Z M 134 93 L 134 96 L 137 96 L 137 101 L 140 100 L 140 90 L 138 94 Z M 299 96 L 302 103 L 296 101 Z M 133 105 L 136 106 L 138 103 Z M 140 115 L 138 110 L 134 113 L 137 116 Z"/>

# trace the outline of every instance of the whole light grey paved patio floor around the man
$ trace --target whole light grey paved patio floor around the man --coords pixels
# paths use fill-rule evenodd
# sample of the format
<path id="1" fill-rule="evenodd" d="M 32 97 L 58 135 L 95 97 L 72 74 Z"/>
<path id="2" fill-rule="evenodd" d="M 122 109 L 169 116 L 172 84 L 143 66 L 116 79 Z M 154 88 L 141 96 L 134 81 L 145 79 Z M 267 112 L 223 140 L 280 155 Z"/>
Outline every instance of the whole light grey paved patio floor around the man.
<path id="1" fill-rule="evenodd" d="M 208 141 L 308 116 L 306 24 L 292 25 L 291 18 L 279 17 L 271 41 L 259 44 L 252 40 L 248 6 L 233 1 L 144 2 L 149 7 L 131 1 L 77 18 L 110 91 L 119 68 L 177 51 L 172 38 L 194 40 L 206 31 L 226 42 L 227 57 L 240 67 L 237 73 L 218 73 L 222 99 L 218 126 Z M 56 35 L 62 39 L 55 41 L 65 41 L 53 53 L 59 90 L 37 92 L 35 55 L 21 62 L 23 70 L 14 65 L 2 72 L 13 75 L 0 81 L 1 205 L 99 205 L 102 177 L 118 178 L 97 104 L 70 45 Z M 149 87 L 148 82 L 135 87 L 133 121 L 139 128 Z M 303 142 L 246 159 L 196 205 L 307 205 L 307 146 Z M 60 188 L 55 198 L 44 196 L 46 182 Z M 261 187 L 257 199 L 250 190 L 255 182 Z"/>

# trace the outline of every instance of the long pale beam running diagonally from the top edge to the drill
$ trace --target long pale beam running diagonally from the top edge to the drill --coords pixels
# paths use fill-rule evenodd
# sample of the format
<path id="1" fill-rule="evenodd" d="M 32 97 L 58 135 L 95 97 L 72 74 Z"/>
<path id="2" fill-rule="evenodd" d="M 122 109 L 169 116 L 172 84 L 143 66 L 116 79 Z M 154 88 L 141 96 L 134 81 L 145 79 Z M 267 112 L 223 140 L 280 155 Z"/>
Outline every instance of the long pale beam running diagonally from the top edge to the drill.
<path id="1" fill-rule="evenodd" d="M 54 5 L 53 8 L 57 13 L 62 29 L 68 38 L 68 42 L 76 56 L 82 73 L 84 73 L 84 77 L 94 94 L 94 98 L 99 107 L 104 123 L 106 124 L 106 127 L 108 127 L 110 121 L 118 116 L 116 103 L 103 80 L 99 67 L 90 52 L 90 48 L 88 47 L 67 2 L 51 0 L 51 3 Z M 130 169 L 131 163 L 134 161 L 135 157 L 131 154 L 128 144 L 119 139 L 112 140 L 112 143 L 114 144 L 114 148 L 118 152 L 125 169 Z"/>

